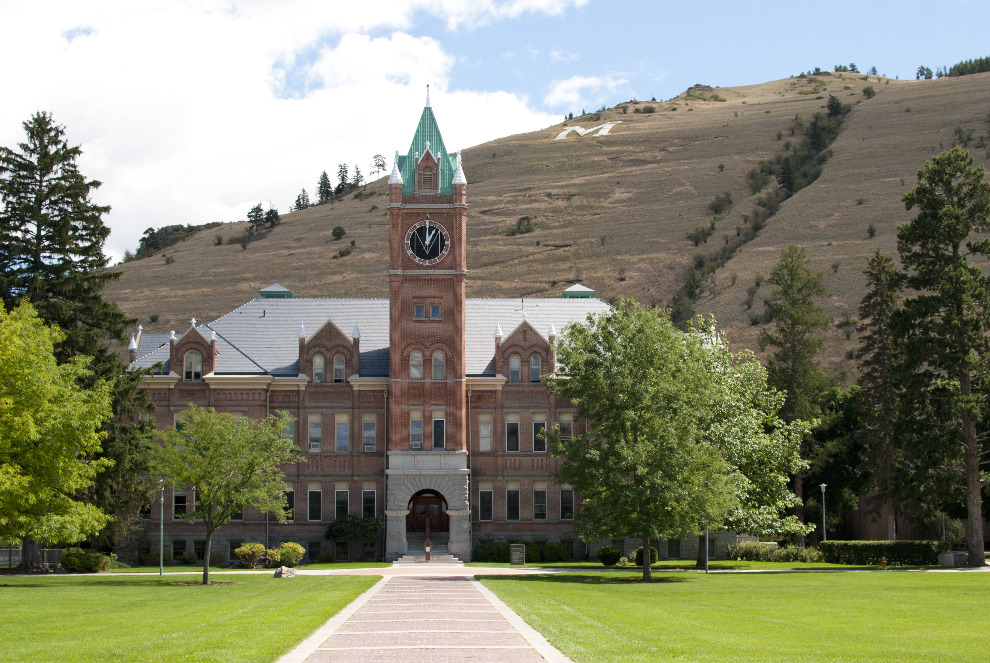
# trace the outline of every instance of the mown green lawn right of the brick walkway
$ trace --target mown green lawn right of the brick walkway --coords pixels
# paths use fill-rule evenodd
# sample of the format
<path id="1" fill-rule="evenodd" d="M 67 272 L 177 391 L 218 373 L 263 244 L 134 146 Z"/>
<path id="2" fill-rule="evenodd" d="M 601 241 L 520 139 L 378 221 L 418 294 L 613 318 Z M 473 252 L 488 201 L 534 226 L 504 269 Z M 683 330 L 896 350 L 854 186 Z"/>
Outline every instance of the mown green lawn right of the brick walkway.
<path id="1" fill-rule="evenodd" d="M 575 663 L 985 661 L 985 573 L 479 576 Z"/>

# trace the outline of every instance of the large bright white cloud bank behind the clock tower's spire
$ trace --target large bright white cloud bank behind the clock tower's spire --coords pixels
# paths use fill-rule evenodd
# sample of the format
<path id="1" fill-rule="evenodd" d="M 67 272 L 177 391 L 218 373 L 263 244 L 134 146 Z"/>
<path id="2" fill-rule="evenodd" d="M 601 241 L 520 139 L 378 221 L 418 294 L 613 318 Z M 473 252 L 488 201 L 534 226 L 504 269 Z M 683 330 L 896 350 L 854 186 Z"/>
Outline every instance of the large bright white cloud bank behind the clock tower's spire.
<path id="1" fill-rule="evenodd" d="M 6 3 L 0 24 L 18 29 L 0 56 L 20 65 L 5 72 L 17 93 L 0 104 L 0 145 L 50 110 L 104 182 L 120 257 L 148 227 L 244 218 L 260 200 L 284 210 L 324 169 L 405 151 L 427 83 L 450 150 L 547 126 L 555 114 L 525 96 L 451 89 L 453 57 L 405 30 L 422 11 L 469 29 L 586 1 Z"/>

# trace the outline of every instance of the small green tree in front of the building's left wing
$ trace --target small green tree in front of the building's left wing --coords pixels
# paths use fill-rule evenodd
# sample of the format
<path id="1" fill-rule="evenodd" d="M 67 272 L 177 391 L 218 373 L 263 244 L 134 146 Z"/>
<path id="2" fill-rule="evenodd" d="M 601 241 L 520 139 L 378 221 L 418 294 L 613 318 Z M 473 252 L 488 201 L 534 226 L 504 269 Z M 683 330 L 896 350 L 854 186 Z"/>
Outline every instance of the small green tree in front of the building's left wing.
<path id="1" fill-rule="evenodd" d="M 292 440 L 284 436 L 292 418 L 278 412 L 264 419 L 235 419 L 190 404 L 182 413 L 182 430 L 159 432 L 151 475 L 169 486 L 191 486 L 196 493 L 190 522 L 206 527 L 203 584 L 210 583 L 213 535 L 235 513 L 252 506 L 285 522 L 285 475 L 282 466 L 297 462 Z"/>

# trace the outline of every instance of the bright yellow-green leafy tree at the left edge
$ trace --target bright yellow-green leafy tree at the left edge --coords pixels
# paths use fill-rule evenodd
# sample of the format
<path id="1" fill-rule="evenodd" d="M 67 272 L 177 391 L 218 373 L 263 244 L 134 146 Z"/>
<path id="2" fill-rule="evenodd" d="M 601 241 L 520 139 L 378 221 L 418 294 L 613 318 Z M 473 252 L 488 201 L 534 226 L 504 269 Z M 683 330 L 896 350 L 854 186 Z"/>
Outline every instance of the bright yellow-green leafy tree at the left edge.
<path id="1" fill-rule="evenodd" d="M 112 465 L 94 458 L 112 384 L 81 387 L 90 358 L 59 364 L 63 339 L 27 300 L 0 308 L 0 536 L 22 539 L 21 569 L 42 566 L 43 541 L 76 541 L 109 520 L 77 494 Z"/>

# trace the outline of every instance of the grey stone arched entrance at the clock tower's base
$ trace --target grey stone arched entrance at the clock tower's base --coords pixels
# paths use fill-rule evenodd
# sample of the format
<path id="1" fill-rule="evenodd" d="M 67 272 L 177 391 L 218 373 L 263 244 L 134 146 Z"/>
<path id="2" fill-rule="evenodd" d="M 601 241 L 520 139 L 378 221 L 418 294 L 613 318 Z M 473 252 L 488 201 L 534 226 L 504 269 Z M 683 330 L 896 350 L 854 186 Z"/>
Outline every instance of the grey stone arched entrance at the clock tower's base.
<path id="1" fill-rule="evenodd" d="M 465 562 L 470 560 L 467 452 L 389 451 L 388 466 L 385 471 L 388 476 L 386 558 L 395 561 L 409 552 L 406 528 L 410 522 L 407 516 L 415 510 L 413 497 L 430 492 L 446 500 L 446 526 L 450 533 L 447 550 Z M 431 529 L 434 524 L 431 523 Z M 410 522 L 409 526 L 414 525 Z"/>

